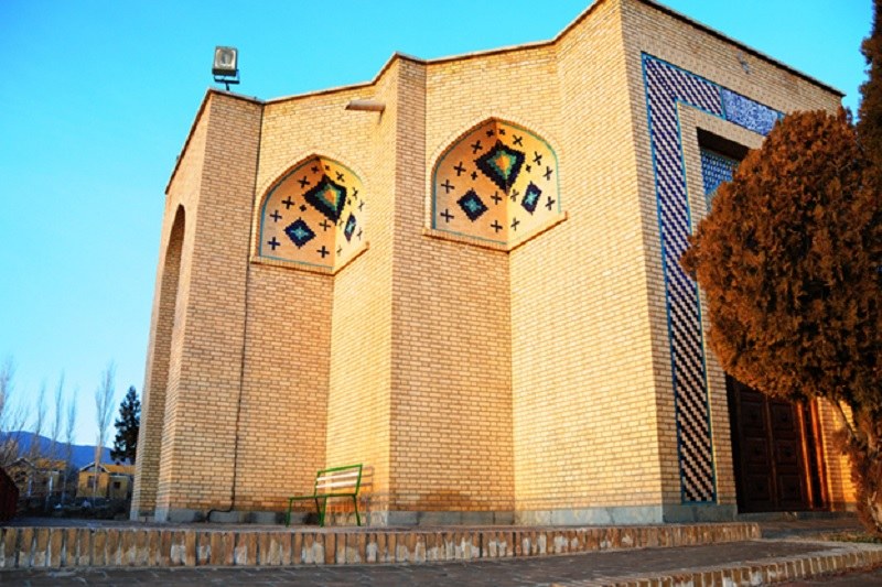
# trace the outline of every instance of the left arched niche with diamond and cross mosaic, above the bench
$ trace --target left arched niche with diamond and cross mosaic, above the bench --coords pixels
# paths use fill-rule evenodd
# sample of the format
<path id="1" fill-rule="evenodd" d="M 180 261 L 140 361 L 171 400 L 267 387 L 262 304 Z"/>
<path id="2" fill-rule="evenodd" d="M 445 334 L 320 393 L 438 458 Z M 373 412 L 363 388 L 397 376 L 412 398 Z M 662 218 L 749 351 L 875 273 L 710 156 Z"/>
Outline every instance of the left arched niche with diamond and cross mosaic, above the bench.
<path id="1" fill-rule="evenodd" d="M 337 161 L 313 156 L 299 163 L 263 198 L 258 256 L 342 267 L 366 246 L 363 194 L 362 180 Z"/>

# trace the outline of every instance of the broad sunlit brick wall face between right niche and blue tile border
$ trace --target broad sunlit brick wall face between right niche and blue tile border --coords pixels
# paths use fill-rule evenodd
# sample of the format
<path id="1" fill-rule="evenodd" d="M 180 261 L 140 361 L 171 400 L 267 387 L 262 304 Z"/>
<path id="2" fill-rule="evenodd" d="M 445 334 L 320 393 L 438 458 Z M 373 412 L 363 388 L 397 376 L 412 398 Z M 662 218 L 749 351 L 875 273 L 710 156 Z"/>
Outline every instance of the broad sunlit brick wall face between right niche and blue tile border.
<path id="1" fill-rule="evenodd" d="M 660 501 L 641 203 L 622 24 L 606 2 L 558 46 L 569 218 L 512 253 L 519 510 Z"/>

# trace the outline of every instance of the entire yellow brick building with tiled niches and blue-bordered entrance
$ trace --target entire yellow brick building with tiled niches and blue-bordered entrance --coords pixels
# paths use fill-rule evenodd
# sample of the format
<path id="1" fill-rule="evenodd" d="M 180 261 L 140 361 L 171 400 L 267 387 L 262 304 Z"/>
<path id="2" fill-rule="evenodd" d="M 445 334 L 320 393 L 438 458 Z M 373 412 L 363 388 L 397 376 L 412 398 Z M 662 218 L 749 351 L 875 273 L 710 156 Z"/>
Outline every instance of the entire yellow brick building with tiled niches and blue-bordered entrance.
<path id="1" fill-rule="evenodd" d="M 840 98 L 649 0 L 363 85 L 209 90 L 166 189 L 132 517 L 266 519 L 351 463 L 374 524 L 846 508 L 831 411 L 728 381 L 676 261 L 775 120 Z"/>

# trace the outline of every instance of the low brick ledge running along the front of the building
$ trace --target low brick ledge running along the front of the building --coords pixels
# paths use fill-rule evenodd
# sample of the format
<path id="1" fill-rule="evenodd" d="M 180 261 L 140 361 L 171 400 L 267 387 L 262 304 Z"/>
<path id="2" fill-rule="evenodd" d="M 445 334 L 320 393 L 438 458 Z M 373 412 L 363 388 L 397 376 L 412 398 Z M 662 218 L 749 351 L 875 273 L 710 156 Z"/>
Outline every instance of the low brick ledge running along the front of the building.
<path id="1" fill-rule="evenodd" d="M 438 531 L 4 528 L 0 569 L 429 563 L 759 537 L 755 523 Z"/>

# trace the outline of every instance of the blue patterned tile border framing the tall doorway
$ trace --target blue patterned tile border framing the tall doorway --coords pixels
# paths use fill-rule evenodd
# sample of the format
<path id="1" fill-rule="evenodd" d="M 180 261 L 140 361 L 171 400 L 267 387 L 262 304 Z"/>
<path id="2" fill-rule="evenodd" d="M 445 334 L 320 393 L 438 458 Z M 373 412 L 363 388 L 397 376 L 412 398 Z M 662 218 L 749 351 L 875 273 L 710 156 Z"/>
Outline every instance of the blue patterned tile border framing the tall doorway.
<path id="1" fill-rule="evenodd" d="M 723 88 L 650 55 L 643 56 L 643 73 L 662 236 L 680 493 L 685 503 L 712 503 L 717 499 L 717 482 L 701 307 L 697 285 L 679 264 L 679 258 L 688 247 L 687 237 L 692 230 L 682 163 L 679 108 L 686 105 L 724 119 L 731 115 L 733 118 L 729 120 L 754 131 L 771 128 L 764 118 L 768 108 L 729 93 L 733 109 L 731 113 L 727 112 Z"/>

